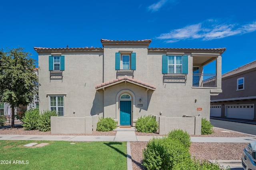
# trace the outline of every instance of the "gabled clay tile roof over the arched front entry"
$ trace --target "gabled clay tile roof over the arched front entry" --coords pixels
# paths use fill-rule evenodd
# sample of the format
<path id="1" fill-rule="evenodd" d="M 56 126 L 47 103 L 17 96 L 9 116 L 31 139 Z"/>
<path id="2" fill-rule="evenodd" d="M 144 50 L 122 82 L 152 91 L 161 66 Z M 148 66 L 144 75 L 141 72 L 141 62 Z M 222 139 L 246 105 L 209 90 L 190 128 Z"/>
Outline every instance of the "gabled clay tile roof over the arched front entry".
<path id="1" fill-rule="evenodd" d="M 114 79 L 114 80 L 110 80 L 108 82 L 104 82 L 104 83 L 101 83 L 101 84 L 97 84 L 95 86 L 95 88 L 96 88 L 96 90 L 101 91 L 101 90 L 103 90 L 103 88 L 107 88 L 109 86 L 114 86 L 116 84 L 119 84 L 119 83 L 125 82 L 125 81 L 127 81 L 129 83 L 132 83 L 132 84 L 135 84 L 137 86 L 143 87 L 143 88 L 148 88 L 151 91 L 156 90 L 156 86 L 153 86 L 153 85 L 148 84 L 148 83 L 144 83 L 142 81 L 139 81 L 139 80 L 136 80 L 136 79 L 133 79 L 133 78 L 129 78 L 127 76 L 117 78 L 117 79 Z"/>

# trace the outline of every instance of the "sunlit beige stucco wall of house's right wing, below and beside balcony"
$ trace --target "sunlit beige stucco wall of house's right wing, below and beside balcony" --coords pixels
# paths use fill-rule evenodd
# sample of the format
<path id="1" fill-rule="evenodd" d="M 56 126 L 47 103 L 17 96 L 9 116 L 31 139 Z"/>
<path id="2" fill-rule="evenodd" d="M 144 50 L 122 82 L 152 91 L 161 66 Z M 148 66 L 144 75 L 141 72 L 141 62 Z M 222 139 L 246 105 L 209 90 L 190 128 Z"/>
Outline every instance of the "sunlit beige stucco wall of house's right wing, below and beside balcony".
<path id="1" fill-rule="evenodd" d="M 148 83 L 156 86 L 148 105 L 148 112 L 151 115 L 166 117 L 200 115 L 209 119 L 210 88 L 192 87 L 193 57 L 184 54 L 188 55 L 186 83 L 163 83 L 162 55 L 165 54 L 148 55 Z M 198 107 L 202 108 L 202 111 L 197 111 Z"/>

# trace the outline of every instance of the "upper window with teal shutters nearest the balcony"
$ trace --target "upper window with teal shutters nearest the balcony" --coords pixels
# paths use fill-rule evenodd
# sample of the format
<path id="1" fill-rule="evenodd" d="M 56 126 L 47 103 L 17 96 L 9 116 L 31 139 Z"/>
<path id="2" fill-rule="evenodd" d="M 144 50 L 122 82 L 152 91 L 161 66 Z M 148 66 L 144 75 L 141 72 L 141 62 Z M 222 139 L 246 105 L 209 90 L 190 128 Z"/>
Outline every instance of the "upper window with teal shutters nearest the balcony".
<path id="1" fill-rule="evenodd" d="M 162 55 L 162 74 L 188 74 L 188 56 Z"/>

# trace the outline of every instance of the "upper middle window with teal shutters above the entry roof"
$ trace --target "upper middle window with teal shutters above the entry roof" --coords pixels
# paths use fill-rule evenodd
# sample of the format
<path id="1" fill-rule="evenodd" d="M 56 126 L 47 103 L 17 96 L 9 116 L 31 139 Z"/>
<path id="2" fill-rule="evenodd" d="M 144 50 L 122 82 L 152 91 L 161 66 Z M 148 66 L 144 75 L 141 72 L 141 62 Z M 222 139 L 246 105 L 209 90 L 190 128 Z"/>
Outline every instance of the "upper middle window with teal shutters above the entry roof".
<path id="1" fill-rule="evenodd" d="M 116 70 L 136 70 L 136 53 L 116 53 Z"/>

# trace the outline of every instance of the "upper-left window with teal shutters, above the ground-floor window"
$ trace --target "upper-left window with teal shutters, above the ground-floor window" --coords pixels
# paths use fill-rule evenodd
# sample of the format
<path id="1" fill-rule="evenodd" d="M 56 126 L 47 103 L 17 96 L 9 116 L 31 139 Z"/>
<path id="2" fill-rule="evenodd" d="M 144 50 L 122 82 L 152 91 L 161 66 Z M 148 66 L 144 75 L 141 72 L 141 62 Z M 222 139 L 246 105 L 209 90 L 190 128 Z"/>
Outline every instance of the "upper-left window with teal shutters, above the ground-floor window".
<path id="1" fill-rule="evenodd" d="M 64 56 L 49 56 L 49 70 L 65 70 Z"/>

